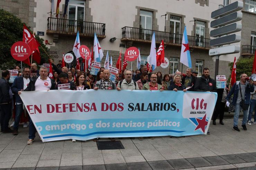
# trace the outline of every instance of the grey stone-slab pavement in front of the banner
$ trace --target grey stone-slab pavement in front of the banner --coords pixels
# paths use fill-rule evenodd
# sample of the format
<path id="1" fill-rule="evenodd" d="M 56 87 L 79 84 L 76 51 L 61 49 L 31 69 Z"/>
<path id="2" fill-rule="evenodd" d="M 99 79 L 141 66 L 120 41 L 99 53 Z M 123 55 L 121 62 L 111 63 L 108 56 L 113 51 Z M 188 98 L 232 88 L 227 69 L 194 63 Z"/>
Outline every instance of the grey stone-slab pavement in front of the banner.
<path id="1" fill-rule="evenodd" d="M 235 132 L 232 122 L 211 123 L 210 135 L 116 139 L 125 148 L 116 150 L 98 150 L 92 140 L 43 143 L 38 135 L 27 145 L 28 128 L 20 126 L 17 136 L 0 133 L 0 170 L 256 169 L 256 125 Z"/>

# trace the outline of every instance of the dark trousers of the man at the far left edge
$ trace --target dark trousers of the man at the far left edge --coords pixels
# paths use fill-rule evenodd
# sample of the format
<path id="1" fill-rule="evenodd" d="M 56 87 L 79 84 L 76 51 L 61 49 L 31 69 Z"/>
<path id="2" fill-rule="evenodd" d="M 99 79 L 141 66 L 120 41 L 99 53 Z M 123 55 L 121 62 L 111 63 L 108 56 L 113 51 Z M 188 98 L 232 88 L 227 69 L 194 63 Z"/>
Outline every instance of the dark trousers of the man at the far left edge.
<path id="1" fill-rule="evenodd" d="M 11 118 L 11 106 L 12 104 L 0 104 L 1 113 L 0 113 L 0 125 L 1 130 L 8 130 L 9 120 Z"/>

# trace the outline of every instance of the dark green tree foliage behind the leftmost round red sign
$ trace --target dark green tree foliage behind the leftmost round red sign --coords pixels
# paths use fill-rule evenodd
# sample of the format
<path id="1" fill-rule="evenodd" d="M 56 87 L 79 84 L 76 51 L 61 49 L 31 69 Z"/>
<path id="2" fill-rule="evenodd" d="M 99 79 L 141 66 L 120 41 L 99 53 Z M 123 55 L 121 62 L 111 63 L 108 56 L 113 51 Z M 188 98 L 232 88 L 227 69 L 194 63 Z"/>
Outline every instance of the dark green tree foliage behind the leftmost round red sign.
<path id="1" fill-rule="evenodd" d="M 13 43 L 22 41 L 23 24 L 25 23 L 22 23 L 15 15 L 0 9 L 0 69 L 12 69 L 14 64 L 20 66 L 20 61 L 16 61 L 12 58 L 10 50 Z M 28 29 L 30 28 L 28 27 Z M 30 32 L 32 31 L 30 30 Z M 37 35 L 35 37 L 48 53 L 48 48 L 44 44 L 44 39 L 39 38 Z M 39 47 L 41 63 L 37 64 L 48 62 L 48 55 L 44 52 L 42 47 Z M 27 65 L 24 64 L 23 66 Z"/>

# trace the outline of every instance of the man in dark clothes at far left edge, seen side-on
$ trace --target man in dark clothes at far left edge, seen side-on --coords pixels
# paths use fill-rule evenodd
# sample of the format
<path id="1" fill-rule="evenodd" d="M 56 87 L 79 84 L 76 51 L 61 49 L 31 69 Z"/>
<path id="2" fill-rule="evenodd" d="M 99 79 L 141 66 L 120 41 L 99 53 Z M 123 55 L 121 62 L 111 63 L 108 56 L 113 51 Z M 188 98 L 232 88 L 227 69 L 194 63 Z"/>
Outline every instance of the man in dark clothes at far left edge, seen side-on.
<path id="1" fill-rule="evenodd" d="M 12 92 L 11 87 L 8 83 L 10 79 L 10 72 L 4 70 L 2 72 L 2 78 L 0 79 L 0 124 L 1 132 L 11 133 L 12 130 L 8 128 L 9 120 L 11 118 L 11 107 L 12 107 Z"/>

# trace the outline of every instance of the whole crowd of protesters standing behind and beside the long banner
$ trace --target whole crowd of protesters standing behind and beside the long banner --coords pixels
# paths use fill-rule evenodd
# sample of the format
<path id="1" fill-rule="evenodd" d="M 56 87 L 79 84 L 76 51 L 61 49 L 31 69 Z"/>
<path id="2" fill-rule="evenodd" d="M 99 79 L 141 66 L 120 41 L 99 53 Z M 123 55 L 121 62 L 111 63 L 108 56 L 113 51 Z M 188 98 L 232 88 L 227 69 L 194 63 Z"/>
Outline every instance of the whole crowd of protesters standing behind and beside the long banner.
<path id="1" fill-rule="evenodd" d="M 58 90 L 62 89 L 62 84 L 66 84 L 69 90 L 173 90 L 173 91 L 201 91 L 201 92 L 217 92 L 218 98 L 216 109 L 213 113 L 213 125 L 216 125 L 216 119 L 219 117 L 219 123 L 223 123 L 223 115 L 226 104 L 235 106 L 234 126 L 233 130 L 240 131 L 238 128 L 238 117 L 240 110 L 243 108 L 243 130 L 247 130 L 246 123 L 251 125 L 253 110 L 256 105 L 256 81 L 248 81 L 246 74 L 241 74 L 240 81 L 237 81 L 231 88 L 227 86 L 224 89 L 216 88 L 216 81 L 210 77 L 209 68 L 203 69 L 201 77 L 197 77 L 198 72 L 192 69 L 186 69 L 186 73 L 176 71 L 175 74 L 162 75 L 161 72 L 148 73 L 147 67 L 142 65 L 139 70 L 130 71 L 123 70 L 122 74 L 116 76 L 116 81 L 110 80 L 110 71 L 104 67 L 96 76 L 91 75 L 90 71 L 83 72 L 75 68 L 62 67 L 61 64 L 55 65 L 50 59 L 54 69 L 54 78 L 48 77 L 48 69 L 44 66 L 37 69 L 36 63 L 31 68 L 25 67 L 22 74 L 19 75 L 12 84 L 8 82 L 10 72 L 4 70 L 0 79 L 0 124 L 1 132 L 18 134 L 19 123 L 21 119 L 27 123 L 29 121 L 29 139 L 27 144 L 32 144 L 36 134 L 36 128 L 29 118 L 29 114 L 24 109 L 23 102 L 19 96 L 22 91 L 38 91 L 38 90 Z M 18 69 L 15 66 L 14 69 Z M 230 101 L 232 94 L 232 102 Z M 228 101 L 228 102 L 227 102 Z M 230 102 L 230 103 L 229 103 Z M 250 106 L 250 107 L 249 107 Z M 9 120 L 13 111 L 13 130 L 9 127 Z M 249 112 L 248 112 L 249 111 Z M 248 117 L 249 115 L 249 117 Z M 29 119 L 28 119 L 29 118 Z M 256 116 L 254 114 L 254 122 L 256 124 Z M 12 127 L 11 126 L 11 127 Z M 208 131 L 207 134 L 210 134 Z M 171 136 L 169 136 L 171 137 Z M 149 137 L 154 139 L 154 137 Z M 109 138 L 114 141 L 115 138 Z M 132 138 L 134 139 L 134 138 Z M 143 140 L 140 137 L 139 140 Z M 99 138 L 93 139 L 97 141 Z M 72 140 L 75 142 L 76 140 Z"/>

